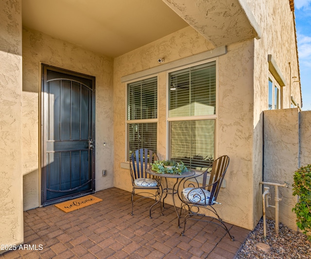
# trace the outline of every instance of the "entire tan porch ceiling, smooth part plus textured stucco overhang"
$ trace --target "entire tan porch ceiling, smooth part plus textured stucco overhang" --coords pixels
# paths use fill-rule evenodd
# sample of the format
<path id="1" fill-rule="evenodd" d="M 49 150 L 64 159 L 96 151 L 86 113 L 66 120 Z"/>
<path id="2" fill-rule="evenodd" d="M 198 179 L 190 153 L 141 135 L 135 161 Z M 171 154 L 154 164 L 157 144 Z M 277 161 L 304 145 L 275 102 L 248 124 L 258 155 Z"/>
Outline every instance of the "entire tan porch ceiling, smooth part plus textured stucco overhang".
<path id="1" fill-rule="evenodd" d="M 23 27 L 117 57 L 189 25 L 215 48 L 260 38 L 245 0 L 23 0 Z"/>

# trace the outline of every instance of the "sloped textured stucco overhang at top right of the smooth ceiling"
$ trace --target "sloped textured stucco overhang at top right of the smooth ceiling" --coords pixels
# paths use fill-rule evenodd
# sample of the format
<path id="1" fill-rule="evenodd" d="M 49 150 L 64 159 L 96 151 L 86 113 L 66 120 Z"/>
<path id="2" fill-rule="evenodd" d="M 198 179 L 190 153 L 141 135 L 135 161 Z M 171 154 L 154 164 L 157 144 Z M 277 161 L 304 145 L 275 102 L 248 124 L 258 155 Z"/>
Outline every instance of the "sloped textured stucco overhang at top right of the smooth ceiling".
<path id="1" fill-rule="evenodd" d="M 260 38 L 245 0 L 163 0 L 215 47 Z"/>

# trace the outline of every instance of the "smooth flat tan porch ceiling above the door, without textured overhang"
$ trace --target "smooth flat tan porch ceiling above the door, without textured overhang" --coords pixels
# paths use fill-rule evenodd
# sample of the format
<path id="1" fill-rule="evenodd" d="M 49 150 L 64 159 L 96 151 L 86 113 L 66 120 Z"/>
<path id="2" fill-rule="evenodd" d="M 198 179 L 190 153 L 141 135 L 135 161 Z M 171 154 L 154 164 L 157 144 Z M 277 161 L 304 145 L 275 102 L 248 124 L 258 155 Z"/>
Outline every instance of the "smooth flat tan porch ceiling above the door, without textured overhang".
<path id="1" fill-rule="evenodd" d="M 189 26 L 162 0 L 22 0 L 22 23 L 110 57 Z"/>

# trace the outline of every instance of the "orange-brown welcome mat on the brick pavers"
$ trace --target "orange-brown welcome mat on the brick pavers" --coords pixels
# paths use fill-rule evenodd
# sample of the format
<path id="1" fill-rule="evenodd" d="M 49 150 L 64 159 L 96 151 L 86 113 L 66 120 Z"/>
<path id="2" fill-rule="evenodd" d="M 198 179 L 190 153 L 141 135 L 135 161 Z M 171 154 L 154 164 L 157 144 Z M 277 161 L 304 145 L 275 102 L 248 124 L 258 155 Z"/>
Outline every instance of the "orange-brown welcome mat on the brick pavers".
<path id="1" fill-rule="evenodd" d="M 98 203 L 101 201 L 102 199 L 97 198 L 93 195 L 86 195 L 86 196 L 83 196 L 83 197 L 80 197 L 74 200 L 55 204 L 54 206 L 68 213 L 76 209 L 83 208 L 83 207 L 86 207 L 86 206 L 89 206 L 89 205 L 92 205 L 94 203 Z"/>

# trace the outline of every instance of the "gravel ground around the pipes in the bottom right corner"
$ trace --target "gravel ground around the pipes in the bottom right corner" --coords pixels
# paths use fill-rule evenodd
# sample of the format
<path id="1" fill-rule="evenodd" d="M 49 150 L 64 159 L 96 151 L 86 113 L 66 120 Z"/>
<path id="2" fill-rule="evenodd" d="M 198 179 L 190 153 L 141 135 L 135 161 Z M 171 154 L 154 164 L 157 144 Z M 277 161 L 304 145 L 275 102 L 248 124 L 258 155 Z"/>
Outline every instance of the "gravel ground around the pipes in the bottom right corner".
<path id="1" fill-rule="evenodd" d="M 294 231 L 284 224 L 279 224 L 279 235 L 276 235 L 275 221 L 266 221 L 267 239 L 264 240 L 263 220 L 249 234 L 236 259 L 311 259 L 311 242 L 306 235 Z M 256 244 L 265 243 L 270 252 L 264 252 Z"/>

